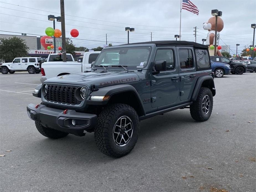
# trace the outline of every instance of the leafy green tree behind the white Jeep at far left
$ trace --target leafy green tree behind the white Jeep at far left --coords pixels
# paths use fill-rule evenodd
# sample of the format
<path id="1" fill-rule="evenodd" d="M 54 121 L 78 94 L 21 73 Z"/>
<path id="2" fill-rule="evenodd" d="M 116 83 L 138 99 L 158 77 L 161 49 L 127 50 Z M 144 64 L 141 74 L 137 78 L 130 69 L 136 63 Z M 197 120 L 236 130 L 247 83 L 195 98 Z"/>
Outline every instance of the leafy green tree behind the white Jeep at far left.
<path id="1" fill-rule="evenodd" d="M 24 39 L 18 37 L 0 38 L 0 60 L 12 62 L 15 57 L 28 55 L 29 47 Z"/>

